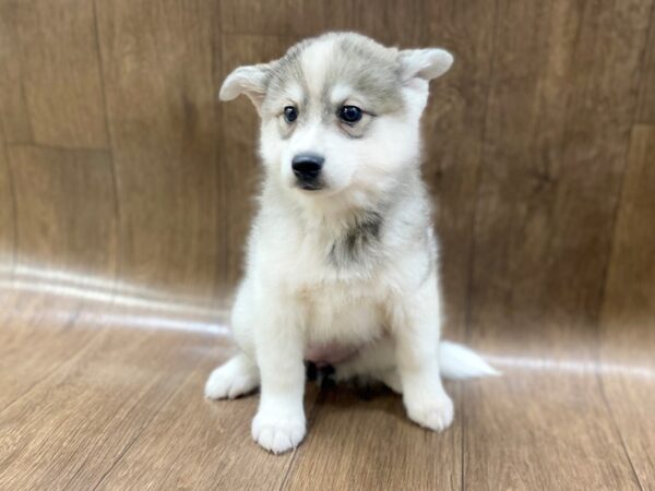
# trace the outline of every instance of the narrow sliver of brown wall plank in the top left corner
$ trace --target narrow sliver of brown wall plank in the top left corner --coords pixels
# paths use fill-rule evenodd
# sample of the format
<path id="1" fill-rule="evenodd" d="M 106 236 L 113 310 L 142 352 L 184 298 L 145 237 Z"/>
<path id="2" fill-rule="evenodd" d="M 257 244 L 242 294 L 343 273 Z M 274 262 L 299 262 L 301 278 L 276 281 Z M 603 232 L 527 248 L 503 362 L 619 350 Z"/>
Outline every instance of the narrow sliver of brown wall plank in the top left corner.
<path id="1" fill-rule="evenodd" d="M 19 4 L 17 0 L 0 1 L 0 123 L 8 142 L 31 142 L 32 122 L 16 32 Z"/>

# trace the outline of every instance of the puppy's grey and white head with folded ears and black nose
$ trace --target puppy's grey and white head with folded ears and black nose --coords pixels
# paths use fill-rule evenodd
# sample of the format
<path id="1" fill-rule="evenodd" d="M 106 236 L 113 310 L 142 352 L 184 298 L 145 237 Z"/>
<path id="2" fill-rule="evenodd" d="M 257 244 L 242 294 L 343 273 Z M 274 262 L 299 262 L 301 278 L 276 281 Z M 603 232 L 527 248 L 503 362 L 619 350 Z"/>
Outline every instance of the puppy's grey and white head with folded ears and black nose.
<path id="1" fill-rule="evenodd" d="M 285 188 L 311 196 L 379 193 L 413 171 L 428 82 L 452 61 L 442 49 L 397 50 L 331 33 L 267 64 L 238 68 L 219 97 L 252 100 L 264 164 Z"/>

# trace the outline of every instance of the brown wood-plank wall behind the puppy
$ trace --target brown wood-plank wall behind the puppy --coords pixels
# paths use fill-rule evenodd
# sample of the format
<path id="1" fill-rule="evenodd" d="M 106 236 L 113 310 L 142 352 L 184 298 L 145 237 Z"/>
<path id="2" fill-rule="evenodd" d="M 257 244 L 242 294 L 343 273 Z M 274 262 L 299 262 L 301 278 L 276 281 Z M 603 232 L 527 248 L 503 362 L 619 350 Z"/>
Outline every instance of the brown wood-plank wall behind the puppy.
<path id="1" fill-rule="evenodd" d="M 221 303 L 259 165 L 254 111 L 217 88 L 300 38 L 356 29 L 456 57 L 424 120 L 450 334 L 539 350 L 645 325 L 654 4 L 0 0 L 0 272 Z"/>

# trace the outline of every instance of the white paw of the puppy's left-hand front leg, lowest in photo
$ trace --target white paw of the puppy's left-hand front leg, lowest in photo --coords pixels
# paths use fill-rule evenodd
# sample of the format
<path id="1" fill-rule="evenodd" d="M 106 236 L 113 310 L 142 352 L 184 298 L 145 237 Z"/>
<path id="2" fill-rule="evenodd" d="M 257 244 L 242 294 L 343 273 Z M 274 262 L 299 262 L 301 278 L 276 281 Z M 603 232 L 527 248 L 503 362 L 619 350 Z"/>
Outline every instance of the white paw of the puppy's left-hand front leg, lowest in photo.
<path id="1" fill-rule="evenodd" d="M 302 412 L 277 412 L 260 410 L 252 420 L 252 438 L 274 454 L 282 454 L 298 446 L 305 438 Z"/>

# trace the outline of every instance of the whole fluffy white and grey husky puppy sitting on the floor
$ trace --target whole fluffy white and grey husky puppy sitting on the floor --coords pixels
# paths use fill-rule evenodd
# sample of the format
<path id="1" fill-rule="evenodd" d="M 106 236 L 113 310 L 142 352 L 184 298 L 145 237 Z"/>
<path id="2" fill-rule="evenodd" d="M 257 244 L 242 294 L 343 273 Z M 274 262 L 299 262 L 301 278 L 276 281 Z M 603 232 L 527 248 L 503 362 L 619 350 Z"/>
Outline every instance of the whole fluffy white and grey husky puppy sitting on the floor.
<path id="1" fill-rule="evenodd" d="M 436 431 L 453 419 L 442 374 L 495 373 L 439 342 L 419 120 L 429 81 L 452 62 L 443 49 L 330 33 L 223 83 L 222 100 L 245 94 L 261 117 L 265 178 L 231 316 L 240 351 L 214 370 L 205 395 L 259 386 L 252 438 L 271 452 L 305 436 L 305 360 L 332 364 L 337 380 L 386 384 L 409 419 Z"/>

